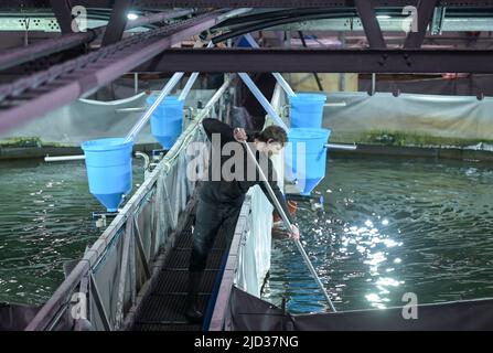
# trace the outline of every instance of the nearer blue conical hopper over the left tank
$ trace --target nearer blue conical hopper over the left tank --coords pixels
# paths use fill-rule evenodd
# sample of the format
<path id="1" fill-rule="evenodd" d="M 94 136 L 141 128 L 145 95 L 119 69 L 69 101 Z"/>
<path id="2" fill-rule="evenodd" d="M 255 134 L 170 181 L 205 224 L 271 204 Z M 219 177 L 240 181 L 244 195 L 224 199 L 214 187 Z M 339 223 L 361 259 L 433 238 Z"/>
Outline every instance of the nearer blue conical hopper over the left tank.
<path id="1" fill-rule="evenodd" d="M 108 212 L 117 212 L 124 194 L 131 190 L 132 145 L 133 141 L 125 142 L 124 138 L 92 140 L 82 145 L 89 191 Z"/>

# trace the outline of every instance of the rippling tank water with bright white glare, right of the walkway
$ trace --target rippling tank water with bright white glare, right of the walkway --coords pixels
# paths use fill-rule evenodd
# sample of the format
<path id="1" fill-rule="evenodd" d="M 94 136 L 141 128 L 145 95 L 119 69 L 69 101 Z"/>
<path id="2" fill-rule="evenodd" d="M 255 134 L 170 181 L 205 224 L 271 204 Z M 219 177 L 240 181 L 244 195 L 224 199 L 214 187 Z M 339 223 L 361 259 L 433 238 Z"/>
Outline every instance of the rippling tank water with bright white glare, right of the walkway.
<path id="1" fill-rule="evenodd" d="M 299 203 L 302 244 L 339 310 L 493 297 L 493 171 L 471 163 L 331 160 Z M 275 239 L 264 298 L 294 313 L 328 306 L 289 240 Z"/>

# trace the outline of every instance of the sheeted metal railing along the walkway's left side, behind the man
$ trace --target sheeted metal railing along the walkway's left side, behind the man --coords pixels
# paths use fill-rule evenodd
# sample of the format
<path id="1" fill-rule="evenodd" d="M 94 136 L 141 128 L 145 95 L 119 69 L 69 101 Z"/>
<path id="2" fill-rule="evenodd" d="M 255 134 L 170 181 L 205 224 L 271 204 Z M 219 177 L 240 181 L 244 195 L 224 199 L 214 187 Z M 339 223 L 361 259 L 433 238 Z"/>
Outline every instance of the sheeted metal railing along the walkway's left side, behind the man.
<path id="1" fill-rule="evenodd" d="M 126 318 L 147 290 L 154 260 L 195 189 L 185 174 L 192 158 L 186 147 L 206 140 L 199 122 L 228 85 L 226 81 L 189 125 L 26 330 L 120 330 L 128 324 Z"/>

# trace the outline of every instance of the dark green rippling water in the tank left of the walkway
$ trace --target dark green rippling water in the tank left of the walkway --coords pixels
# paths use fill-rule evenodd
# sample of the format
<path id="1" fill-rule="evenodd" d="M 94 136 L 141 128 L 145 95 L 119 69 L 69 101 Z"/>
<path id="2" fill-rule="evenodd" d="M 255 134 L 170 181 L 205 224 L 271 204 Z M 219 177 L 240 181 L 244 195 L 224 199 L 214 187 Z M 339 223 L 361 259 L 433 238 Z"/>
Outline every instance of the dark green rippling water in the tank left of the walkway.
<path id="1" fill-rule="evenodd" d="M 133 191 L 141 170 L 133 165 Z M 84 161 L 0 162 L 0 301 L 49 299 L 64 279 L 63 263 L 100 235 L 93 211 L 105 208 L 88 191 Z"/>

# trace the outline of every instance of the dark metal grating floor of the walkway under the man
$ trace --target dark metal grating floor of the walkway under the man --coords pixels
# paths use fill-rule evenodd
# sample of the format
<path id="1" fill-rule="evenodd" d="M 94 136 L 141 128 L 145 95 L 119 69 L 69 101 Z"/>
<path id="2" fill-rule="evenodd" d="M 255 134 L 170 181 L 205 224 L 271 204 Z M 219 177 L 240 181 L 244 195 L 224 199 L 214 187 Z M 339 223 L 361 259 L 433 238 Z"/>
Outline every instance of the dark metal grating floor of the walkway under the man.
<path id="1" fill-rule="evenodd" d="M 216 237 L 207 258 L 200 289 L 200 309 L 205 312 L 213 290 L 221 259 L 226 248 L 222 232 Z M 158 275 L 151 293 L 141 303 L 131 330 L 135 331 L 200 331 L 202 325 L 191 324 L 184 317 L 189 260 L 192 253 L 192 225 L 178 236 L 176 245 Z"/>

